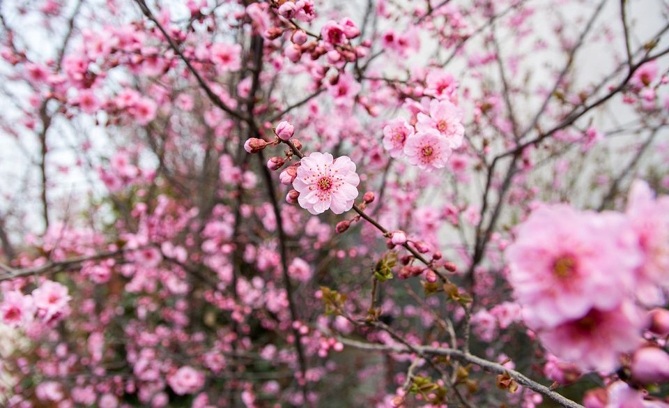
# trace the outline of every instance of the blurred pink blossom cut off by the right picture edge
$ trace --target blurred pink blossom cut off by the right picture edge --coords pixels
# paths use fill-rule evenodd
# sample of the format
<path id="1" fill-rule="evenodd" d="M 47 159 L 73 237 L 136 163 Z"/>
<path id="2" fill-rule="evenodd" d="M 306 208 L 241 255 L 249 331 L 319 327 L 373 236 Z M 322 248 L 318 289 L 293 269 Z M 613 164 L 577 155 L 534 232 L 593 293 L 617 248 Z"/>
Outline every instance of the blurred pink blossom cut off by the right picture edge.
<path id="1" fill-rule="evenodd" d="M 669 289 L 669 197 L 654 199 L 644 181 L 635 181 L 626 213 L 644 255 L 637 271 L 638 299 L 645 305 L 661 305 L 662 289 Z"/>

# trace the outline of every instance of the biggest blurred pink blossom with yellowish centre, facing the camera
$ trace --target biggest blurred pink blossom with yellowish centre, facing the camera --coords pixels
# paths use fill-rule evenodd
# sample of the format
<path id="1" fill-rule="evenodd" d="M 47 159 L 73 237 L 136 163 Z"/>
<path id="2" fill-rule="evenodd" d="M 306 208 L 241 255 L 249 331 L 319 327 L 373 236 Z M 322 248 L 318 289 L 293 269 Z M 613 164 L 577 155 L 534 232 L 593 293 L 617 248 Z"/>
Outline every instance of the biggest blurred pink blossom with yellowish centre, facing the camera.
<path id="1" fill-rule="evenodd" d="M 509 281 L 530 328 L 553 327 L 611 310 L 634 282 L 641 261 L 624 216 L 542 206 L 518 227 L 509 245 Z"/>

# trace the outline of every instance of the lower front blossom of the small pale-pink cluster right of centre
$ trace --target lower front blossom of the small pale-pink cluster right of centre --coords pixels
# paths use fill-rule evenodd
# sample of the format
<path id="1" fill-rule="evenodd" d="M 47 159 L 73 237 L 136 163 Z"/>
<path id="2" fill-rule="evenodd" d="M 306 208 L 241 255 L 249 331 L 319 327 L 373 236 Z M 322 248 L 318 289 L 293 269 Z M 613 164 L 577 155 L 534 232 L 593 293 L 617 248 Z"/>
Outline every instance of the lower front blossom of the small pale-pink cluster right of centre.
<path id="1" fill-rule="evenodd" d="M 447 139 L 436 130 L 410 135 L 404 144 L 409 163 L 428 171 L 444 167 L 451 153 Z"/>

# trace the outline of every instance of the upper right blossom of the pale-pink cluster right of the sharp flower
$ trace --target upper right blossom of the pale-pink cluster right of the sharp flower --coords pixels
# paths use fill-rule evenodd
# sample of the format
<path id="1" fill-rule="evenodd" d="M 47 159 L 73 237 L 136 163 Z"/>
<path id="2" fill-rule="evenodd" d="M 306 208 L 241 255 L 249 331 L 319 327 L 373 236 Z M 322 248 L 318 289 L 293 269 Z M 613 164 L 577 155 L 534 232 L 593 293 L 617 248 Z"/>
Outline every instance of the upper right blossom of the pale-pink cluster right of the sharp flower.
<path id="1" fill-rule="evenodd" d="M 430 102 L 430 115 L 419 113 L 416 130 L 427 132 L 437 130 L 443 135 L 451 149 L 457 149 L 462 144 L 465 128 L 462 126 L 463 112 L 459 107 L 453 105 L 449 100 L 432 100 Z"/>

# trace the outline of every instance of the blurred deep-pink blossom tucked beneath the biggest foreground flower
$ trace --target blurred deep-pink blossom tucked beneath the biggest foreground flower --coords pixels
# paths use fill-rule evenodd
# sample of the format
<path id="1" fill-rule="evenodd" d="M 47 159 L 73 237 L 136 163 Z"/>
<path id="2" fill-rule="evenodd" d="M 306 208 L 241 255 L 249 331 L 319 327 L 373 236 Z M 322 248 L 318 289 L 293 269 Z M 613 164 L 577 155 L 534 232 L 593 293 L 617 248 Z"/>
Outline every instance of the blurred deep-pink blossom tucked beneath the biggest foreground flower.
<path id="1" fill-rule="evenodd" d="M 643 314 L 631 303 L 612 310 L 591 309 L 583 317 L 539 332 L 546 349 L 582 370 L 611 372 L 620 355 L 640 345 Z"/>

